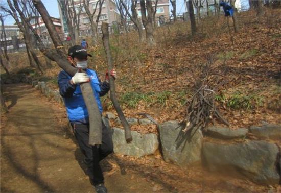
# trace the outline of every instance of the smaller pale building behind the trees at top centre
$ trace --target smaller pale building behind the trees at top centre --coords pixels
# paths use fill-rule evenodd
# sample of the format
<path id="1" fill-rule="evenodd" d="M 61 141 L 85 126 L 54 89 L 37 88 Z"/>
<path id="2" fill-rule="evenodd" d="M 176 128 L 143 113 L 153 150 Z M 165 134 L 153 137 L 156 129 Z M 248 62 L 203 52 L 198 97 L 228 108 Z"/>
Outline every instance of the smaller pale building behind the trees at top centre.
<path id="1" fill-rule="evenodd" d="M 155 1 L 152 1 L 152 7 L 155 10 Z M 141 9 L 140 9 L 139 1 L 137 2 L 136 9 L 137 9 L 138 17 L 141 18 L 142 12 L 140 11 Z M 156 7 L 156 14 L 155 14 L 155 18 L 158 25 L 160 25 L 160 21 L 159 21 L 160 16 L 163 16 L 166 22 L 170 20 L 169 0 L 158 0 L 157 7 Z"/>

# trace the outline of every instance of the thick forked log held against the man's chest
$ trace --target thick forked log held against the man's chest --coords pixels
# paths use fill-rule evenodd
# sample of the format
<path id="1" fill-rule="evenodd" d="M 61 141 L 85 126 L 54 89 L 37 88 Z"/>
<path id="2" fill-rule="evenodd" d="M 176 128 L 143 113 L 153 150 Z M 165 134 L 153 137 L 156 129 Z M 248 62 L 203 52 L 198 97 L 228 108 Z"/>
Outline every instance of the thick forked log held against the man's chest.
<path id="1" fill-rule="evenodd" d="M 43 52 L 47 57 L 49 57 L 51 60 L 55 60 L 57 64 L 66 71 L 71 76 L 74 76 L 77 73 L 77 69 L 72 67 L 65 56 L 62 54 L 66 54 L 63 44 L 60 40 L 60 37 L 55 30 L 55 27 L 53 25 L 53 22 L 51 20 L 51 17 L 49 13 L 46 11 L 46 8 L 44 7 L 41 0 L 32 0 L 34 6 L 40 13 L 46 28 L 48 29 L 48 32 L 53 40 L 53 43 L 55 45 L 55 48 L 57 52 L 46 52 L 44 50 L 44 47 L 39 46 L 41 48 L 41 52 Z M 96 99 L 93 95 L 93 90 L 90 83 L 83 83 L 80 85 L 82 95 L 88 110 L 89 114 L 89 122 L 90 122 L 90 131 L 89 131 L 89 144 L 95 145 L 95 144 L 101 144 L 102 143 L 102 120 L 101 120 L 101 114 L 96 102 Z"/>

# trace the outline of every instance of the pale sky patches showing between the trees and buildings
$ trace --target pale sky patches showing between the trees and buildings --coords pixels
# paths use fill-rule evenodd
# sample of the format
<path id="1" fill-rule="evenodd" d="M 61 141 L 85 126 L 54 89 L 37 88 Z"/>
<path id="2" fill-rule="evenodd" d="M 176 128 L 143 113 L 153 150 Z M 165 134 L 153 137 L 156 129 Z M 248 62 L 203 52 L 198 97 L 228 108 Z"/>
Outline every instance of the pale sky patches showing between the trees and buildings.
<path id="1" fill-rule="evenodd" d="M 6 0 L 0 0 L 1 3 L 6 2 Z M 49 12 L 50 16 L 52 17 L 60 17 L 59 16 L 59 8 L 58 8 L 58 2 L 57 0 L 42 0 L 44 6 L 46 7 L 47 11 Z M 184 0 L 177 0 L 177 15 L 180 15 L 184 12 L 185 6 L 184 6 Z M 236 2 L 241 2 L 241 5 L 243 8 L 248 7 L 248 0 L 236 0 Z M 170 5 L 170 9 L 171 9 Z M 5 18 L 4 23 L 5 25 L 13 25 L 14 24 L 14 19 L 10 16 Z"/>

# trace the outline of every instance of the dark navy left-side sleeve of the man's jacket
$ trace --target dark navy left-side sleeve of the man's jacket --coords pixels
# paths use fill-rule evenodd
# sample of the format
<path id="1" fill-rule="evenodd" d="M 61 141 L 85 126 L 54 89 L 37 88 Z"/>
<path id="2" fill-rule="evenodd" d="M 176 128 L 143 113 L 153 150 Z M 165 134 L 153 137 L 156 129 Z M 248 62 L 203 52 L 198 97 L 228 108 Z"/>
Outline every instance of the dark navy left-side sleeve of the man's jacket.
<path id="1" fill-rule="evenodd" d="M 71 78 L 65 71 L 61 71 L 58 75 L 58 84 L 60 95 L 64 98 L 69 98 L 76 90 L 76 85 L 71 85 Z"/>

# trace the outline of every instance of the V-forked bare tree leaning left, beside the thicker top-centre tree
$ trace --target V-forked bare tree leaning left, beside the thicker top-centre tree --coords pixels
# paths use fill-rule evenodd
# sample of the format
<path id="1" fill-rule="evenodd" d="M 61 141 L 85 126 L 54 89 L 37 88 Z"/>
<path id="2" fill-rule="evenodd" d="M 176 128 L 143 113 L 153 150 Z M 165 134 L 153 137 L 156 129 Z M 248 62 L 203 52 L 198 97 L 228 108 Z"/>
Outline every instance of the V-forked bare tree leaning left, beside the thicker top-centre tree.
<path id="1" fill-rule="evenodd" d="M 142 27 L 142 23 L 138 19 L 137 10 L 136 10 L 137 0 L 131 0 L 131 12 L 129 11 L 129 7 L 127 7 L 127 5 L 124 3 L 124 0 L 120 0 L 120 3 L 123 5 L 130 19 L 133 21 L 134 25 L 136 26 L 136 29 L 138 31 L 139 41 L 144 42 L 145 36 L 143 32 L 143 27 Z"/>

